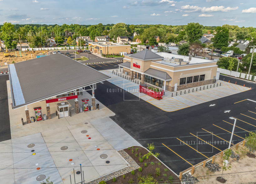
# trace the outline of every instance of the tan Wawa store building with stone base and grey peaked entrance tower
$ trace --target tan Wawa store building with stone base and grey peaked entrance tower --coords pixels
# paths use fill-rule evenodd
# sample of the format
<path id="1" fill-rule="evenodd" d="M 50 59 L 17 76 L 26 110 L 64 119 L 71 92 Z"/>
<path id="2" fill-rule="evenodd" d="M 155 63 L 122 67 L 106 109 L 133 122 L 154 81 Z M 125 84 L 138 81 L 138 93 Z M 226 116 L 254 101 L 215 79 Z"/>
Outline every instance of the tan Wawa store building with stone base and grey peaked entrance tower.
<path id="1" fill-rule="evenodd" d="M 218 66 L 217 61 L 144 49 L 125 55 L 120 67 L 130 79 L 141 79 L 141 84 L 177 91 L 215 83 Z"/>

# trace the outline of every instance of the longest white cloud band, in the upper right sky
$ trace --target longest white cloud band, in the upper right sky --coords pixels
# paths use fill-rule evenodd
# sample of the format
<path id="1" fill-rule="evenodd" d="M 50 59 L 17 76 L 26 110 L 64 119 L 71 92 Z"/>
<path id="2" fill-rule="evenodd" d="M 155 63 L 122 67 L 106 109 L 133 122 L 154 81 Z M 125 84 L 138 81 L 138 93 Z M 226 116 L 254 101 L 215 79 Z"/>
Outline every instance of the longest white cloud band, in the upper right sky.
<path id="1" fill-rule="evenodd" d="M 231 10 L 236 10 L 238 9 L 238 7 L 227 7 L 225 8 L 224 6 L 212 6 L 210 8 L 206 8 L 206 7 L 198 7 L 198 6 L 190 6 L 190 5 L 185 5 L 182 6 L 181 9 L 185 10 L 185 12 L 197 12 L 197 11 L 201 11 L 201 12 L 217 12 L 217 11 L 222 11 L 222 12 L 229 12 Z"/>

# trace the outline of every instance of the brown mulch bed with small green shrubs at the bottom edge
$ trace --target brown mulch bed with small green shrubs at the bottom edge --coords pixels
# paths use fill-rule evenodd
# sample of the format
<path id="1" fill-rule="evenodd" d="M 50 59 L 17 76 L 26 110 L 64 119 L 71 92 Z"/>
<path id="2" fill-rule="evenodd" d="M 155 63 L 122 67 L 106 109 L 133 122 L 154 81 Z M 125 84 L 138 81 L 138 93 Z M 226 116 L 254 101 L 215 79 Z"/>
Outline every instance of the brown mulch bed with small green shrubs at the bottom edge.
<path id="1" fill-rule="evenodd" d="M 139 150 L 135 151 L 136 148 L 139 148 Z M 134 151 L 132 153 L 132 150 Z M 150 157 L 150 160 L 149 159 L 144 159 L 143 162 L 140 162 L 139 160 L 139 154 L 141 153 L 141 157 L 146 155 L 148 153 L 148 151 L 145 149 L 145 148 L 142 148 L 140 146 L 134 146 L 134 148 L 130 148 L 129 150 L 128 149 L 124 149 L 124 151 L 129 155 L 131 156 L 132 159 L 134 159 L 134 161 L 142 168 L 142 171 L 138 171 L 138 169 L 134 170 L 135 171 L 135 174 L 132 175 L 131 172 L 129 173 L 126 173 L 125 174 L 125 178 L 123 178 L 123 176 L 119 176 L 116 178 L 116 181 L 113 182 L 112 180 L 109 180 L 107 181 L 106 183 L 107 184 L 127 184 L 129 183 L 128 181 L 130 179 L 133 180 L 133 183 L 138 183 L 138 175 L 141 175 L 141 176 L 145 176 L 147 177 L 149 174 L 151 174 L 153 176 L 153 178 L 159 183 L 165 183 L 165 181 L 167 183 L 170 183 L 168 178 L 169 176 L 172 176 L 173 177 L 173 183 L 175 182 L 180 182 L 179 178 L 172 172 L 170 171 L 166 166 L 164 166 L 159 160 L 157 160 L 154 156 L 151 156 Z M 154 151 L 153 151 L 154 152 Z M 138 156 L 136 157 L 135 154 L 138 154 Z M 154 165 L 151 165 L 151 162 L 155 163 Z M 144 164 L 147 164 L 147 167 L 145 167 Z M 161 165 L 159 166 L 157 163 L 160 163 Z M 155 172 L 156 172 L 156 168 L 160 168 L 160 176 L 156 176 Z M 168 169 L 168 171 L 164 171 L 164 169 Z M 166 174 L 166 176 L 163 176 L 163 174 Z M 160 180 L 163 180 L 163 181 L 160 181 Z"/>

